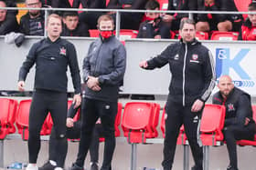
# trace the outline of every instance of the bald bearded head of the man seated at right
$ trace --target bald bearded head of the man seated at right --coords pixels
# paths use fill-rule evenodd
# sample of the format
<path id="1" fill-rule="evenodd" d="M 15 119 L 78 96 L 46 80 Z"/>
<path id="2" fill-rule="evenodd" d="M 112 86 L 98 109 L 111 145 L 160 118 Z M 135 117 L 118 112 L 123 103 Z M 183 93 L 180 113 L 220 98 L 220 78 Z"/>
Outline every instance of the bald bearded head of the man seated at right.
<path id="1" fill-rule="evenodd" d="M 229 76 L 224 75 L 219 78 L 218 87 L 221 95 L 228 96 L 234 88 L 234 84 Z"/>

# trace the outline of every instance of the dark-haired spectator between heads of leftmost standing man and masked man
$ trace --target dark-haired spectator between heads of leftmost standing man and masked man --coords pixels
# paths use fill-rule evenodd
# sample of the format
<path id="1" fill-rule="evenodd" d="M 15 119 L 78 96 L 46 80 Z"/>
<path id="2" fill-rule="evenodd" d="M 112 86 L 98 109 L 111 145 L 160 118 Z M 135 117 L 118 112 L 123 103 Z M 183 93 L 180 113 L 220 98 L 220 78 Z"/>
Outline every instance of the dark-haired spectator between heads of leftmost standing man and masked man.
<path id="1" fill-rule="evenodd" d="M 78 12 L 65 12 L 63 24 L 61 36 L 90 36 L 88 26 L 79 22 Z"/>

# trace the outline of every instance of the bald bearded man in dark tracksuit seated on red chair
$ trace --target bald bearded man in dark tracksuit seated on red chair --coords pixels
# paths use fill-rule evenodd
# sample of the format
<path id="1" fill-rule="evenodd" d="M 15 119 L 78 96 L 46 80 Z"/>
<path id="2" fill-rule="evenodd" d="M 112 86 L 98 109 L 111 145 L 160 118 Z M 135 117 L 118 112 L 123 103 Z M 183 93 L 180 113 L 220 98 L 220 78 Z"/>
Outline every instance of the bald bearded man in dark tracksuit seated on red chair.
<path id="1" fill-rule="evenodd" d="M 213 104 L 225 105 L 226 117 L 223 129 L 229 152 L 227 170 L 238 170 L 236 141 L 253 140 L 255 122 L 252 119 L 251 95 L 235 87 L 229 75 L 219 78 L 219 92 L 213 95 Z"/>

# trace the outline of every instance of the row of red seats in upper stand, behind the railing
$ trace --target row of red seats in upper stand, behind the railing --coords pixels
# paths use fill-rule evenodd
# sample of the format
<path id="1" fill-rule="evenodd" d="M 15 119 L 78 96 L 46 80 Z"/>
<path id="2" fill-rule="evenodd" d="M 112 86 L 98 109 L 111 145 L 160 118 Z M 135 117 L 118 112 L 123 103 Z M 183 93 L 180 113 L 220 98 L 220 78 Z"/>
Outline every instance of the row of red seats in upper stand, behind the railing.
<path id="1" fill-rule="evenodd" d="M 99 37 L 100 31 L 98 29 L 90 29 L 89 30 L 91 37 Z M 115 32 L 114 32 L 115 34 Z M 129 29 L 121 29 L 120 30 L 120 39 L 121 41 L 124 41 L 125 39 L 130 38 L 136 38 L 138 35 L 138 31 L 136 30 L 129 30 Z M 174 39 L 176 36 L 176 33 L 173 31 L 170 31 L 171 39 Z M 238 32 L 219 32 L 219 31 L 213 31 L 210 39 L 211 40 L 238 40 L 239 33 Z M 209 35 L 207 32 L 197 32 L 196 37 L 198 40 L 208 40 Z M 178 37 L 180 38 L 180 36 Z"/>

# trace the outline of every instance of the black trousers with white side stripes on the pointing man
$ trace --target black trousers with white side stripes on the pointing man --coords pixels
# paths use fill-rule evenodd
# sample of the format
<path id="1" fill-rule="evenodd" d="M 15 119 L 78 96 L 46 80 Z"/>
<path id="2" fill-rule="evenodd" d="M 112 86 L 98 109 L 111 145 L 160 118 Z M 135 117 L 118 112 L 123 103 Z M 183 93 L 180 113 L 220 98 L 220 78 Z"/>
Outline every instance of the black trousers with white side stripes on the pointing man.
<path id="1" fill-rule="evenodd" d="M 183 106 L 168 100 L 165 106 L 164 170 L 172 169 L 176 153 L 176 140 L 182 124 L 192 151 L 197 170 L 203 170 L 203 147 L 199 137 L 200 119 L 202 111 L 193 113 L 191 106 Z"/>

